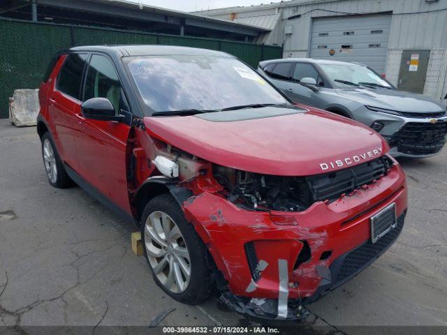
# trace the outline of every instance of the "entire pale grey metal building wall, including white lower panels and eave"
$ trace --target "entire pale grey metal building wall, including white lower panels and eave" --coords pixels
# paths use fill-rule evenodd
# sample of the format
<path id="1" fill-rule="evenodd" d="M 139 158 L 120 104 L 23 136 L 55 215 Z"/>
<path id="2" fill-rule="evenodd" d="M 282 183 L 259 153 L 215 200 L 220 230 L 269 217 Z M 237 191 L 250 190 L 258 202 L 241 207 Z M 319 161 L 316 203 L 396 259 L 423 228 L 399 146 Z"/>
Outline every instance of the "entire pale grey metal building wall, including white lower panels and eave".
<path id="1" fill-rule="evenodd" d="M 270 43 L 284 43 L 284 57 L 309 57 L 312 20 L 316 17 L 346 13 L 392 14 L 386 77 L 397 84 L 402 50 L 430 50 L 424 94 L 444 98 L 447 94 L 447 0 L 295 0 L 262 6 L 228 8 L 202 12 L 211 17 L 226 18 L 230 12 L 237 17 L 256 17 L 281 13 L 275 29 L 267 36 Z M 417 13 L 416 13 L 417 12 Z M 419 13 L 431 12 L 431 13 Z M 412 14 L 408 14 L 412 13 Z M 260 23 L 261 20 L 260 20 Z M 251 19 L 256 25 L 256 20 Z M 274 38 L 271 38 L 274 36 Z M 440 58 L 441 57 L 441 58 Z M 447 104 L 446 100 L 443 100 Z"/>

